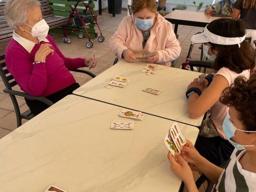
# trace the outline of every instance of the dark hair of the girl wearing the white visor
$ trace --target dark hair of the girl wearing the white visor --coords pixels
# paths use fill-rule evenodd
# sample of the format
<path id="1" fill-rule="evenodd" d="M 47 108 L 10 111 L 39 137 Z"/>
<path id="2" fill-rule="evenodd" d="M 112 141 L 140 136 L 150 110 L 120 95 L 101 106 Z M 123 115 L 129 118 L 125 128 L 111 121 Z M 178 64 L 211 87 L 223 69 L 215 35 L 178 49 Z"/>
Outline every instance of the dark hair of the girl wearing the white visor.
<path id="1" fill-rule="evenodd" d="M 224 37 L 242 37 L 245 35 L 245 22 L 241 19 L 222 18 L 212 21 L 207 29 L 217 35 Z M 250 43 L 244 40 L 238 45 L 219 45 L 211 43 L 211 49 L 218 52 L 213 63 L 213 68 L 218 71 L 222 67 L 241 73 L 255 66 L 254 49 Z"/>

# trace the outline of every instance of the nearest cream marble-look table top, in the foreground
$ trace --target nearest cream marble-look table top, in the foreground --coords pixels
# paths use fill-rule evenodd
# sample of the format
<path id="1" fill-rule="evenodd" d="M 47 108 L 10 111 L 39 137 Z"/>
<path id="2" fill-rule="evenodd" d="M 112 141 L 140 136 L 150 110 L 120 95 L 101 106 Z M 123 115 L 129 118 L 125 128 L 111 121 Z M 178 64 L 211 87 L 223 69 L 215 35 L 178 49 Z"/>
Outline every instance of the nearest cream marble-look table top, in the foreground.
<path id="1" fill-rule="evenodd" d="M 0 139 L 0 192 L 177 192 L 164 137 L 172 121 L 146 115 L 110 129 L 122 108 L 67 96 Z M 198 129 L 178 124 L 195 142 Z"/>

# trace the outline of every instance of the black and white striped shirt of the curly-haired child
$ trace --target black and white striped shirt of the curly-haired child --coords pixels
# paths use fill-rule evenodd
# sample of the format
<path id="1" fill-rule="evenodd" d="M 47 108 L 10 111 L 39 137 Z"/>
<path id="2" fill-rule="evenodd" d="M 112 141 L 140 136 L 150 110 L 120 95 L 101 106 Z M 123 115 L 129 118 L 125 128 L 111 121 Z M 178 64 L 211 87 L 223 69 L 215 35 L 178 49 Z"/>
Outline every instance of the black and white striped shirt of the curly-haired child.
<path id="1" fill-rule="evenodd" d="M 256 192 L 256 173 L 244 170 L 239 162 L 246 150 L 234 149 L 224 168 L 216 192 Z"/>

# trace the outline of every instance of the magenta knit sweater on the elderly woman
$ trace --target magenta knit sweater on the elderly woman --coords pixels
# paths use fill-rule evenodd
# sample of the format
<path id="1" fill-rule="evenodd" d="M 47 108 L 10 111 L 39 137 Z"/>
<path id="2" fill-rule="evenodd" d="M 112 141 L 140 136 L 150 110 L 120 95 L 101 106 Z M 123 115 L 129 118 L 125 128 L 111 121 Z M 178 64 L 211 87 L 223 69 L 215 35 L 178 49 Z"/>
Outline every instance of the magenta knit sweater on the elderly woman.
<path id="1" fill-rule="evenodd" d="M 40 45 L 35 44 L 29 53 L 17 41 L 11 39 L 5 49 L 5 62 L 7 69 L 19 84 L 21 90 L 32 96 L 49 96 L 65 87 L 75 83 L 69 70 L 84 67 L 83 58 L 66 58 L 55 44 L 50 35 L 46 37 L 53 55 L 46 57 L 46 63 L 32 64 L 34 56 Z M 40 44 L 48 43 L 41 41 Z"/>

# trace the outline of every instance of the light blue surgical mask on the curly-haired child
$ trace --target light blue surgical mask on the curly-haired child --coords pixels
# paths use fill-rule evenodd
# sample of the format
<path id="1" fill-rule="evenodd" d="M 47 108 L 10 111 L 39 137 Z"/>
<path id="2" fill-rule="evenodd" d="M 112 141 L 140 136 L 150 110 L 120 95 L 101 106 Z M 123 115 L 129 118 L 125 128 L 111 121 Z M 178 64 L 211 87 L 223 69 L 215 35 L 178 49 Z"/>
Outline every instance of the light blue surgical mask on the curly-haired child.
<path id="1" fill-rule="evenodd" d="M 228 141 L 237 149 L 237 150 L 244 150 L 244 147 L 254 147 L 254 145 L 240 145 L 238 143 L 235 143 L 234 141 L 231 141 L 230 138 L 235 136 L 235 131 L 239 130 L 239 131 L 243 131 L 243 132 L 256 132 L 256 131 L 249 131 L 249 130 L 242 130 L 239 128 L 236 128 L 232 122 L 230 121 L 230 116 L 227 113 L 226 117 L 224 119 L 222 128 L 224 130 L 225 136 L 228 139 Z"/>

